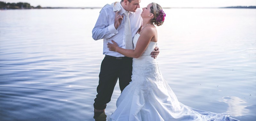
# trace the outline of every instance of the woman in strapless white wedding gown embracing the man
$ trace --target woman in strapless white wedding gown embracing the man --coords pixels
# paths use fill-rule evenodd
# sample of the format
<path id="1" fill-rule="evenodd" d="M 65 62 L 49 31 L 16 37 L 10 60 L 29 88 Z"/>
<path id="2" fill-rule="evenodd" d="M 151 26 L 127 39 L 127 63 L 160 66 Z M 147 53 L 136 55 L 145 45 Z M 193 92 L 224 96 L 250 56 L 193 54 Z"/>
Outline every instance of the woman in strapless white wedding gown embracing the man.
<path id="1" fill-rule="evenodd" d="M 117 99 L 110 121 L 238 121 L 226 113 L 196 110 L 180 103 L 162 77 L 156 59 L 150 56 L 157 42 L 157 30 L 165 13 L 156 3 L 142 9 L 143 26 L 133 38 L 134 50 L 108 43 L 110 51 L 132 57 L 132 82 Z M 154 25 L 154 24 L 155 25 Z"/>

